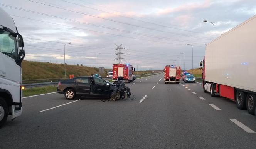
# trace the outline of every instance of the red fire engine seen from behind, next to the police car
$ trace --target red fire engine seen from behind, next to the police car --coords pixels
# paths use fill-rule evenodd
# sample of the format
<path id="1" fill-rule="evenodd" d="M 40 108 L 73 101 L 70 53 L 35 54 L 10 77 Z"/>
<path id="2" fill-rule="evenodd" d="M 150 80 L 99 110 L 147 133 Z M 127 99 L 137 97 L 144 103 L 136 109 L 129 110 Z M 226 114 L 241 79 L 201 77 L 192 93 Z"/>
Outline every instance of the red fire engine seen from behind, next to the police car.
<path id="1" fill-rule="evenodd" d="M 165 71 L 165 84 L 167 83 L 180 83 L 180 66 L 176 65 L 166 65 L 164 68 Z"/>

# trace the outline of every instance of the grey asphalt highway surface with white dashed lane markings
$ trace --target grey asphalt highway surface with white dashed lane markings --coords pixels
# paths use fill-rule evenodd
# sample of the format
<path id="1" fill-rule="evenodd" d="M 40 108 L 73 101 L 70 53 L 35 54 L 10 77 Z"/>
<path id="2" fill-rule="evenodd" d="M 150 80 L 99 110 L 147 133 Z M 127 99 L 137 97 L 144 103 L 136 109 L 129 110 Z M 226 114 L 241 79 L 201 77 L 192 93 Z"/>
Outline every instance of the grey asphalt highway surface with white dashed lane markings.
<path id="1" fill-rule="evenodd" d="M 126 84 L 136 99 L 23 99 L 22 116 L 0 129 L 0 148 L 256 148 L 256 118 L 200 83 L 164 84 L 163 74 Z"/>

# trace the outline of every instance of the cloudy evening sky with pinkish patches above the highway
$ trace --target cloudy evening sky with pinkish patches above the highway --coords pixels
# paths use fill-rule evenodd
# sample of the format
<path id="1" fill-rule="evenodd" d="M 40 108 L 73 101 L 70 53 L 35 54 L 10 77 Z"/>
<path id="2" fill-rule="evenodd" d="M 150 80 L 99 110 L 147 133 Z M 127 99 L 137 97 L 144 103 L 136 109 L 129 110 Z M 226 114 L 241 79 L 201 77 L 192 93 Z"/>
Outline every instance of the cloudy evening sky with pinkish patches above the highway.
<path id="1" fill-rule="evenodd" d="M 205 44 L 256 14 L 255 0 L 1 0 L 26 60 L 111 68 L 116 45 L 138 70 L 198 67 Z M 191 44 L 191 45 L 186 45 Z M 179 58 L 180 59 L 179 59 Z M 180 62 L 181 60 L 181 62 Z"/>

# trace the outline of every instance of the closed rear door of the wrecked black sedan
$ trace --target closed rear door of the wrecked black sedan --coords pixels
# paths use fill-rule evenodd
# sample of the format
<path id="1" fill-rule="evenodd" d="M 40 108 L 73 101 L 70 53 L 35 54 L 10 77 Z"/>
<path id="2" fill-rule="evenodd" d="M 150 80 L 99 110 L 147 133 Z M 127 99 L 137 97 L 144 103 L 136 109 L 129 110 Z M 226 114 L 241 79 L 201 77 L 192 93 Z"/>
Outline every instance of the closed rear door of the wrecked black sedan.
<path id="1" fill-rule="evenodd" d="M 77 95 L 90 94 L 90 83 L 88 77 L 77 77 L 74 79 L 74 88 Z"/>

